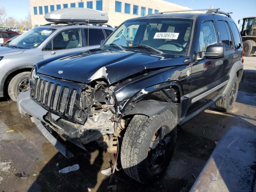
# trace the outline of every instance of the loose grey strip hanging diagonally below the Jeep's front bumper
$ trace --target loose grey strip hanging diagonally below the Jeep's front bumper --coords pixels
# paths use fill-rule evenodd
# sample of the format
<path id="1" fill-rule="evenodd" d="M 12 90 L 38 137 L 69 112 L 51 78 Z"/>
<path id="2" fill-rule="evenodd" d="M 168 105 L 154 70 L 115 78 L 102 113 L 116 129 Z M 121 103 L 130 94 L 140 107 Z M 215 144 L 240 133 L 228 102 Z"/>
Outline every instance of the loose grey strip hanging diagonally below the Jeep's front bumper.
<path id="1" fill-rule="evenodd" d="M 43 124 L 40 122 L 40 120 L 31 117 L 31 121 L 36 124 L 38 129 L 42 132 L 42 134 L 46 137 L 50 143 L 60 151 L 62 155 L 64 155 L 67 159 L 74 157 L 74 155 L 67 150 L 52 134 L 43 126 Z"/>

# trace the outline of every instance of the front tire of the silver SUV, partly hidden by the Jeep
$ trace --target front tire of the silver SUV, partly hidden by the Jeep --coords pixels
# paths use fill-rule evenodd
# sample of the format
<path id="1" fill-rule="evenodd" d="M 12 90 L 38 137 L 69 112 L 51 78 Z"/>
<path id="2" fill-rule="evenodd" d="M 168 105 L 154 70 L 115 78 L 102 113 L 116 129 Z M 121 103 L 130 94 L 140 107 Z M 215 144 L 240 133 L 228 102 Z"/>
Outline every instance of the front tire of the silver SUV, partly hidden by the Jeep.
<path id="1" fill-rule="evenodd" d="M 19 92 L 18 92 L 18 87 L 20 82 L 22 82 L 22 80 L 29 78 L 30 77 L 31 72 L 21 72 L 19 74 L 17 74 L 16 76 L 14 76 L 12 78 L 12 80 L 10 81 L 9 85 L 8 85 L 8 95 L 9 97 L 16 102 Z"/>

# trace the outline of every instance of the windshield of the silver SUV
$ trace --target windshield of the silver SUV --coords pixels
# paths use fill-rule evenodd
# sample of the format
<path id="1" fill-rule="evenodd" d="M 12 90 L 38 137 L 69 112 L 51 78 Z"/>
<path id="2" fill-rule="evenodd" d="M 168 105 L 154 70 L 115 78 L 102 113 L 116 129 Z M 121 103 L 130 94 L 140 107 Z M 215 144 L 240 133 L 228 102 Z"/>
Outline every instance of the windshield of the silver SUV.
<path id="1" fill-rule="evenodd" d="M 34 28 L 12 40 L 8 46 L 18 48 L 38 47 L 55 29 Z"/>

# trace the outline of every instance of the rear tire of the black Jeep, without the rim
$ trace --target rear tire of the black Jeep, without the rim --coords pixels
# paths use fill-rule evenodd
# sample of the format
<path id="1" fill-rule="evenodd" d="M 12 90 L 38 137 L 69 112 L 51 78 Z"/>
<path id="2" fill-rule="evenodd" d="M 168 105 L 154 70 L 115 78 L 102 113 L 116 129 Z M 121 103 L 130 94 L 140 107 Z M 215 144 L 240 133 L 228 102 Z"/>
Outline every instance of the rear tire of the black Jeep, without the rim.
<path id="1" fill-rule="evenodd" d="M 231 99 L 232 99 L 232 88 L 233 86 L 236 86 L 235 87 L 235 94 L 234 94 L 234 98 L 231 102 Z M 238 77 L 235 76 L 233 81 L 232 81 L 232 84 L 227 92 L 227 94 L 224 95 L 224 97 L 220 100 L 218 100 L 216 103 L 215 103 L 215 106 L 218 110 L 220 111 L 230 111 L 233 106 L 234 106 L 234 102 L 236 101 L 236 96 L 237 96 L 237 93 L 238 93 Z"/>

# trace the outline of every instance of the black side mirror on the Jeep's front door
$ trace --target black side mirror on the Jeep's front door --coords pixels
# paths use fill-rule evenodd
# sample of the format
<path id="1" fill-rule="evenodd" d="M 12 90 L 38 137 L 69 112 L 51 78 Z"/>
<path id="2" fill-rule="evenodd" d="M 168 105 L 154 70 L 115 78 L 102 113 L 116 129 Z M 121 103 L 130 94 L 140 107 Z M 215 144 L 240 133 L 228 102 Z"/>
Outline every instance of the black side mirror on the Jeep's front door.
<path id="1" fill-rule="evenodd" d="M 225 47 L 223 45 L 209 45 L 206 52 L 199 52 L 200 58 L 220 59 L 225 55 Z"/>

